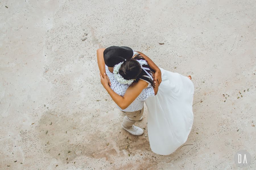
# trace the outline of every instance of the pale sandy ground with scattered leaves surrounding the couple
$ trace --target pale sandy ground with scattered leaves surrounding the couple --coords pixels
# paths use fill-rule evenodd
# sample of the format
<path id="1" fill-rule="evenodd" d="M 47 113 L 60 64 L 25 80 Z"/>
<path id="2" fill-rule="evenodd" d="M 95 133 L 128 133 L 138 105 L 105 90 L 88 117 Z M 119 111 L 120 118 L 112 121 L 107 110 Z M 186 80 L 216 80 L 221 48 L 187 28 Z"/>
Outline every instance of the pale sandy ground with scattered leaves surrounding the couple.
<path id="1" fill-rule="evenodd" d="M 0 5 L 0 169 L 239 169 L 233 159 L 243 149 L 253 157 L 245 169 L 254 169 L 255 1 Z M 96 61 L 96 50 L 112 45 L 192 75 L 186 146 L 151 152 L 147 110 L 136 123 L 142 136 L 121 129 L 124 115 L 100 84 Z"/>

